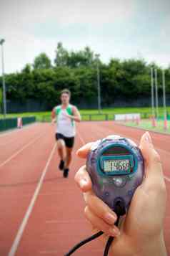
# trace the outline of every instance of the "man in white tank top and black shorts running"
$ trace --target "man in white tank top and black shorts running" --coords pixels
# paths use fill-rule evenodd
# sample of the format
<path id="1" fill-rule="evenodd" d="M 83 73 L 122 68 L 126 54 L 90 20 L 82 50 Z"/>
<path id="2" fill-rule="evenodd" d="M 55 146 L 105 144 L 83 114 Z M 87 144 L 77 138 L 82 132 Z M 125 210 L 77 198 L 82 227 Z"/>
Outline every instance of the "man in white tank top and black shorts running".
<path id="1" fill-rule="evenodd" d="M 71 163 L 71 152 L 76 135 L 75 121 L 80 122 L 79 110 L 69 104 L 71 93 L 65 89 L 61 91 L 61 105 L 52 110 L 52 123 L 56 122 L 56 141 L 59 157 L 59 169 L 63 170 L 63 176 L 69 175 L 69 164 Z"/>

